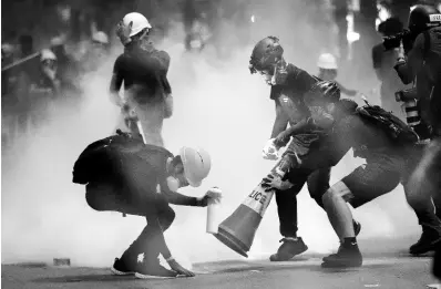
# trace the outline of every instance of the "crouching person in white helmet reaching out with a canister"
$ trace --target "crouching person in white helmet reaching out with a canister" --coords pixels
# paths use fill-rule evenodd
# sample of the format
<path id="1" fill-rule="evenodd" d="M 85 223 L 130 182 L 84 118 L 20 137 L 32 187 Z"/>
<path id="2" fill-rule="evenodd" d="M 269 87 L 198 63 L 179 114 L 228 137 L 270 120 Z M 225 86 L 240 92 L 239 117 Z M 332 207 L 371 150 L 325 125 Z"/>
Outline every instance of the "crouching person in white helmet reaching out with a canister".
<path id="1" fill-rule="evenodd" d="M 199 187 L 211 167 L 211 156 L 202 148 L 184 146 L 178 155 L 173 155 L 121 131 L 92 143 L 81 153 L 73 167 L 72 182 L 86 185 L 89 206 L 99 211 L 120 211 L 147 219 L 137 239 L 115 258 L 113 275 L 194 276 L 172 257 L 163 233 L 175 218 L 170 204 L 207 206 L 208 194 L 196 198 L 177 190 L 188 185 Z M 160 254 L 172 270 L 160 265 Z M 140 255 L 144 257 L 140 259 Z"/>

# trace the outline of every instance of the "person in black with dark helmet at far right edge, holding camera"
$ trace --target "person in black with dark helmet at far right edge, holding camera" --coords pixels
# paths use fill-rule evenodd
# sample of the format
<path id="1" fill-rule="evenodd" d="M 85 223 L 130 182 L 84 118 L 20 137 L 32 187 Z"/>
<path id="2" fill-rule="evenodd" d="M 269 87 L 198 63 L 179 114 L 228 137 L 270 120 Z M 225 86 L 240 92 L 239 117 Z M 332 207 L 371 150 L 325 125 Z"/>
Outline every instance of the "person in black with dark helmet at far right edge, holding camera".
<path id="1" fill-rule="evenodd" d="M 410 194 L 433 198 L 441 216 L 441 13 L 432 6 L 418 6 L 409 17 L 411 45 L 400 55 L 396 70 L 404 83 L 417 78 L 421 118 L 432 128 L 431 143 L 410 178 Z M 413 42 L 414 40 L 414 42 Z M 406 49 L 406 48 L 404 48 Z M 433 259 L 433 273 L 441 278 L 441 244 Z"/>

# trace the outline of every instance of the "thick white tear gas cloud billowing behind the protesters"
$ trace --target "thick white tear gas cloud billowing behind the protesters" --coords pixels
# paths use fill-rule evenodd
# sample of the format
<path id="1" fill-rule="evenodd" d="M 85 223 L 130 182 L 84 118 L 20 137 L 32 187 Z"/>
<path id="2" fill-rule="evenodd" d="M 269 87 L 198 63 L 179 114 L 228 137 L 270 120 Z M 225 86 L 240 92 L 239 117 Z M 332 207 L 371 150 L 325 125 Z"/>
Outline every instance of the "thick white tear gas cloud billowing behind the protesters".
<path id="1" fill-rule="evenodd" d="M 287 60 L 315 73 L 316 55 L 310 49 L 318 53 L 326 43 L 310 33 L 308 22 L 288 27 L 264 25 L 253 42 L 267 34 L 278 35 Z M 180 43 L 182 29 L 176 31 L 162 43 L 172 58 L 168 79 L 175 99 L 174 115 L 164 123 L 165 147 L 176 153 L 182 145 L 197 145 L 211 153 L 212 172 L 202 187 L 182 193 L 202 196 L 211 186 L 219 186 L 226 218 L 274 166 L 261 158 L 275 118 L 274 102 L 269 86 L 247 70 L 253 47 L 234 51 L 228 60 L 216 59 L 209 47 L 203 54 L 192 55 L 184 53 Z M 234 35 L 234 30 L 227 32 Z M 119 122 L 119 110 L 107 99 L 121 45 L 115 51 L 99 72 L 84 76 L 80 104 L 58 104 L 49 123 L 3 156 L 2 262 L 70 257 L 73 265 L 110 266 L 145 225 L 141 217 L 94 211 L 85 203 L 84 187 L 71 182 L 73 163 L 82 149 L 114 132 Z M 359 159 L 347 155 L 332 169 L 331 184 L 358 164 Z M 338 239 L 326 214 L 306 190 L 298 198 L 299 236 L 311 251 L 329 252 Z M 266 258 L 278 248 L 279 223 L 275 200 L 271 203 L 257 231 L 252 258 Z M 242 258 L 205 233 L 205 208 L 174 209 L 176 219 L 165 238 L 183 265 Z M 355 217 L 363 225 L 361 239 L 399 238 L 418 230 L 401 187 L 358 209 Z"/>

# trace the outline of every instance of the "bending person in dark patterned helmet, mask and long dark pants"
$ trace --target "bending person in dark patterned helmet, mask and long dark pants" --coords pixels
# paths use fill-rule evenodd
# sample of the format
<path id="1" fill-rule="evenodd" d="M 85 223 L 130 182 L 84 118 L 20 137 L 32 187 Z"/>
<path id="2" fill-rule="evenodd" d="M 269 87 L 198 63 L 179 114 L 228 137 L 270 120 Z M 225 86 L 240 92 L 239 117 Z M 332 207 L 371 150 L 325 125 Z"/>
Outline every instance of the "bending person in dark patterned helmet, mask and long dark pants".
<path id="1" fill-rule="evenodd" d="M 276 120 L 270 140 L 264 147 L 264 158 L 277 158 L 277 152 L 289 142 L 293 130 L 301 125 L 309 112 L 304 104 L 302 96 L 317 82 L 317 79 L 306 71 L 287 63 L 283 58 L 284 49 L 275 37 L 260 40 L 253 50 L 249 61 L 252 73 L 260 73 L 271 86 L 270 99 L 276 104 Z M 290 125 L 287 128 L 287 125 Z M 288 151 L 295 152 L 296 157 L 302 158 L 310 151 L 310 146 L 318 140 L 316 132 L 305 132 L 295 135 Z M 297 194 L 305 183 L 308 184 L 310 196 L 322 206 L 321 196 L 329 188 L 330 168 L 318 171 L 291 169 L 281 189 L 276 190 L 277 210 L 280 221 L 283 245 L 277 254 L 270 256 L 271 261 L 284 261 L 308 249 L 301 237 L 297 236 Z M 281 192 L 281 190 L 287 192 Z M 356 223 L 359 231 L 359 224 Z"/>

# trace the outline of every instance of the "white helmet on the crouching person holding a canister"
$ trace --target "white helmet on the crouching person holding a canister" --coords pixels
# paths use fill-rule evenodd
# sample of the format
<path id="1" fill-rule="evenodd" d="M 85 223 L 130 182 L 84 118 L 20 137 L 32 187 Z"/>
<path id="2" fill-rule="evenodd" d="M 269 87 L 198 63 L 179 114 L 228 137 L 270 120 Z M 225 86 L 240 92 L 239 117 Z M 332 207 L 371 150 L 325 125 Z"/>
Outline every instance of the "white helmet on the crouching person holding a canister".
<path id="1" fill-rule="evenodd" d="M 184 165 L 185 178 L 192 187 L 198 187 L 202 180 L 208 176 L 212 168 L 212 158 L 202 148 L 184 146 L 180 149 L 180 156 Z"/>

